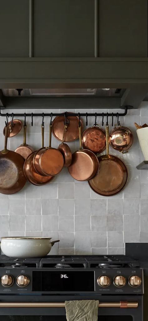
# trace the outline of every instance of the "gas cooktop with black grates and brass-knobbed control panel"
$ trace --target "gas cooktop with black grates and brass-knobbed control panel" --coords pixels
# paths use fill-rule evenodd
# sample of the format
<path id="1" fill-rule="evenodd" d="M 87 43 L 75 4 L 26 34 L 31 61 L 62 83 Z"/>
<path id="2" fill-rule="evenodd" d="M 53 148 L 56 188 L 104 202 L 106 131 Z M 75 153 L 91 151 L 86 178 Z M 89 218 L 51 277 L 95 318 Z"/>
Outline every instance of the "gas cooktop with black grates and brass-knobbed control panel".
<path id="1" fill-rule="evenodd" d="M 0 256 L 0 294 L 94 294 L 144 293 L 143 269 L 124 255 Z"/>

